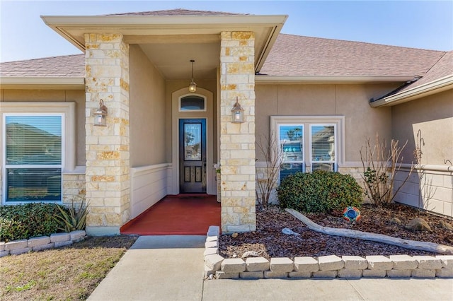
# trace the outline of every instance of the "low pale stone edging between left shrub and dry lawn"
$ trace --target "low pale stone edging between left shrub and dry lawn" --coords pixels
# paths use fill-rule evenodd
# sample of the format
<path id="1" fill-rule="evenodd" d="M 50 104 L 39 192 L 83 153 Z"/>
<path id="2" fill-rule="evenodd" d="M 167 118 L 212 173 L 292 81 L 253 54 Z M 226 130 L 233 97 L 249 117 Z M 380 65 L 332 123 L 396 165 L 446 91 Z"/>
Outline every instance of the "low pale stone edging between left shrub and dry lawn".
<path id="1" fill-rule="evenodd" d="M 33 237 L 28 240 L 13 240 L 11 242 L 0 242 L 0 257 L 7 255 L 18 255 L 30 251 L 42 251 L 69 246 L 74 242 L 80 242 L 86 237 L 84 230 L 71 231 L 69 233 L 54 233 L 50 236 Z"/>

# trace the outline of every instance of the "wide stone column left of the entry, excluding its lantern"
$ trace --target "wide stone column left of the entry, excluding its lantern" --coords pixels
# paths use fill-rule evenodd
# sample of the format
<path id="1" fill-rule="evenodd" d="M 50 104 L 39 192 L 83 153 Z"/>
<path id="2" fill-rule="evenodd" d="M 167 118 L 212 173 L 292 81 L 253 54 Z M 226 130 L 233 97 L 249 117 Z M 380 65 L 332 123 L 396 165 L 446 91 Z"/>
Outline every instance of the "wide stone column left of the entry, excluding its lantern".
<path id="1" fill-rule="evenodd" d="M 88 235 L 115 235 L 130 219 L 129 45 L 118 34 L 85 34 Z M 107 126 L 93 126 L 99 100 Z"/>

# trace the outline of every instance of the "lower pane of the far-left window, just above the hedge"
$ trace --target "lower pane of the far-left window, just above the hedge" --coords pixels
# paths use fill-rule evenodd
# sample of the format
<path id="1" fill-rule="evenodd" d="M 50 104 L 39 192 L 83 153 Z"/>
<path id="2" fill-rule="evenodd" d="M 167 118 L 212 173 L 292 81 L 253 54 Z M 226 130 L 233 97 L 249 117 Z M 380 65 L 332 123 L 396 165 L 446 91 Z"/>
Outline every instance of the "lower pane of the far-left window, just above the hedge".
<path id="1" fill-rule="evenodd" d="M 60 201 L 61 168 L 6 168 L 6 201 Z"/>

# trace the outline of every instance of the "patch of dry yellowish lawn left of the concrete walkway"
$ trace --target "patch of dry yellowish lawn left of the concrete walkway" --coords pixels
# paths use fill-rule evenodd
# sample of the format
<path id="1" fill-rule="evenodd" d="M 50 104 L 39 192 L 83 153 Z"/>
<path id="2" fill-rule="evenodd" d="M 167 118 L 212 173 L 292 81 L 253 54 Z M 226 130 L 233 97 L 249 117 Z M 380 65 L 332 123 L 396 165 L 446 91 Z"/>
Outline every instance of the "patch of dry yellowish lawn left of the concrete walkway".
<path id="1" fill-rule="evenodd" d="M 0 258 L 0 300 L 86 300 L 137 237 L 88 237 Z"/>

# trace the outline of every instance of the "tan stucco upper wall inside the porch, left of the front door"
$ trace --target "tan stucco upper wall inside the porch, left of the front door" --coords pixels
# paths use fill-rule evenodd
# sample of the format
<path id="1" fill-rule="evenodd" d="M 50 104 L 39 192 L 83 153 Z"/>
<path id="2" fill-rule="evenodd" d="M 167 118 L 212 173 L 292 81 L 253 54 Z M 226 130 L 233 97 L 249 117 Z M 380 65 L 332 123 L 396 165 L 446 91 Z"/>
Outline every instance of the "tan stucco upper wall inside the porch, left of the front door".
<path id="1" fill-rule="evenodd" d="M 138 45 L 130 45 L 132 167 L 166 163 L 165 81 Z"/>

